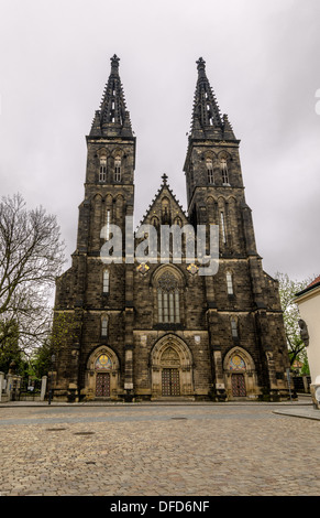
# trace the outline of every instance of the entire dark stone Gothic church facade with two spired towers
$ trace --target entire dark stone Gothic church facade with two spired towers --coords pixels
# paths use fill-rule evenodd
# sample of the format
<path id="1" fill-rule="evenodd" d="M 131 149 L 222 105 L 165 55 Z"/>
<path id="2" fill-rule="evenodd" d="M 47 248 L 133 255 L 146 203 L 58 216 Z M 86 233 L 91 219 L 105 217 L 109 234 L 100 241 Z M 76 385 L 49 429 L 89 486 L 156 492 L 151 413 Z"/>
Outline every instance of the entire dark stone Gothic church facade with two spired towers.
<path id="1" fill-rule="evenodd" d="M 184 166 L 187 213 L 164 175 L 142 224 L 157 233 L 163 225 L 219 225 L 218 271 L 199 276 L 197 259 L 101 259 L 101 229 L 117 225 L 125 236 L 134 212 L 136 142 L 114 55 L 87 137 L 77 248 L 56 283 L 54 399 L 218 401 L 287 395 L 278 288 L 256 250 L 240 141 L 220 114 L 202 58 L 197 71 Z"/>

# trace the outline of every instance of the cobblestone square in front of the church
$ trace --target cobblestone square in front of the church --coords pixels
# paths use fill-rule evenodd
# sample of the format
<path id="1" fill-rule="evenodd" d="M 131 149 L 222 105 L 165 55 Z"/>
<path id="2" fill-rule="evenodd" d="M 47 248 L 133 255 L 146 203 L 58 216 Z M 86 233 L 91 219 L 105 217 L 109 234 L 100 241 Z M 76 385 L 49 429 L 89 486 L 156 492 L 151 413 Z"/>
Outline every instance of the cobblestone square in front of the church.
<path id="1" fill-rule="evenodd" d="M 288 408 L 0 407 L 0 494 L 318 496 L 320 421 Z"/>

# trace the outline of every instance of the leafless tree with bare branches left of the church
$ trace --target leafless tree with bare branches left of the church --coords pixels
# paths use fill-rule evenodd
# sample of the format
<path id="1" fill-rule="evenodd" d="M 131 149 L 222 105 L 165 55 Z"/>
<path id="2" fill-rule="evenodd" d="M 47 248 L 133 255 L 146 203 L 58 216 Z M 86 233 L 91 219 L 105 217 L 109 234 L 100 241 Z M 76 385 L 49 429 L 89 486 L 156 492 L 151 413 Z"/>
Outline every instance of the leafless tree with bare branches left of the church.
<path id="1" fill-rule="evenodd" d="M 0 201 L 0 347 L 19 333 L 23 350 L 38 346 L 52 323 L 49 301 L 65 262 L 54 215 L 26 209 L 20 194 Z"/>

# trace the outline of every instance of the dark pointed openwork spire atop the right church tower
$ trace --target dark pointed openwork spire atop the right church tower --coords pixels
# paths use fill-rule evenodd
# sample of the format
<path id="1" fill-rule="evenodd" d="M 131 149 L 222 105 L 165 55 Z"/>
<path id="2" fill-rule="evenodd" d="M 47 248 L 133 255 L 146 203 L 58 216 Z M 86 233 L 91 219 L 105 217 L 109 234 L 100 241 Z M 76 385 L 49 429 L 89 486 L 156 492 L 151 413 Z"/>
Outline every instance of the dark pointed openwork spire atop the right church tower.
<path id="1" fill-rule="evenodd" d="M 194 100 L 191 138 L 221 138 L 223 122 L 214 94 L 206 74 L 206 62 L 197 61 L 198 80 Z"/>

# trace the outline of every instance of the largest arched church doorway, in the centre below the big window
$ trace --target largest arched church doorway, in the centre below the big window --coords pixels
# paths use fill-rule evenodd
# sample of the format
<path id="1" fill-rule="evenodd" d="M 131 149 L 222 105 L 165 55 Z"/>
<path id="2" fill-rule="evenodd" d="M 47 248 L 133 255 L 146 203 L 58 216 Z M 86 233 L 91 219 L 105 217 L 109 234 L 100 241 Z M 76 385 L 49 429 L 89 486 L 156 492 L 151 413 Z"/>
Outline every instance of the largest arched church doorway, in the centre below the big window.
<path id="1" fill-rule="evenodd" d="M 153 399 L 194 393 L 191 353 L 178 336 L 166 335 L 155 344 L 151 370 Z"/>

